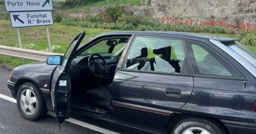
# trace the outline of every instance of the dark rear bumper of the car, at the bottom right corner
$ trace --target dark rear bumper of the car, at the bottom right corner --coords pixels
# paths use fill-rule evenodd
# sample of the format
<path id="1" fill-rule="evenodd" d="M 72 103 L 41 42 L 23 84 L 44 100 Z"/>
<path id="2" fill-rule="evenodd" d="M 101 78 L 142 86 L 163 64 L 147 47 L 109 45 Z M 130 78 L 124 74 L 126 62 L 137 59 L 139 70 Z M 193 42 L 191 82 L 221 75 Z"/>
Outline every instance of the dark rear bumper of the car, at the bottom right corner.
<path id="1" fill-rule="evenodd" d="M 230 134 L 256 133 L 256 123 L 244 123 L 238 121 L 221 120 L 227 127 Z"/>

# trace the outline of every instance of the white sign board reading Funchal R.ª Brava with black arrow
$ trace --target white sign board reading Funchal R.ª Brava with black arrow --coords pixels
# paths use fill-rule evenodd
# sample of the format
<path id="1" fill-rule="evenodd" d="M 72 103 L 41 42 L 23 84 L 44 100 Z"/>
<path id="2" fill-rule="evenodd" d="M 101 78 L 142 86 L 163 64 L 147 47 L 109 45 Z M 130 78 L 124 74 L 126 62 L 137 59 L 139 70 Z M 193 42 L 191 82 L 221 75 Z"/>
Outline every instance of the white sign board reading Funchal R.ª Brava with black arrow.
<path id="1" fill-rule="evenodd" d="M 52 25 L 51 11 L 29 11 L 10 13 L 12 27 L 30 27 Z"/>

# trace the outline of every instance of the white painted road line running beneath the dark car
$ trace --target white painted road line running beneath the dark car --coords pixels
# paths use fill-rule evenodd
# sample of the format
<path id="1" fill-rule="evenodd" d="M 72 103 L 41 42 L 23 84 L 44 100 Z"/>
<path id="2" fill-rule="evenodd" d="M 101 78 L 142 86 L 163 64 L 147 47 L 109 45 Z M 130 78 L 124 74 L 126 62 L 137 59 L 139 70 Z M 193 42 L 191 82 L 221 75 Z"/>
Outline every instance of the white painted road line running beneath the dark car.
<path id="1" fill-rule="evenodd" d="M 4 100 L 8 100 L 8 101 L 11 101 L 13 103 L 17 103 L 17 101 L 14 99 L 14 98 L 11 98 L 9 96 L 5 96 L 4 94 L 0 94 L 0 98 L 4 99 Z M 53 112 L 47 112 L 47 114 L 51 115 L 51 116 L 54 116 L 54 113 Z M 94 131 L 99 131 L 100 133 L 113 133 L 113 134 L 119 134 L 119 133 L 116 133 L 115 131 L 111 131 L 111 130 L 106 130 L 105 128 L 100 128 L 99 126 L 95 126 L 93 124 L 89 124 L 89 123 L 85 123 L 83 121 L 79 121 L 77 119 L 74 119 L 74 118 L 69 118 L 67 120 L 68 123 L 73 123 L 73 124 L 77 124 L 78 126 L 83 126 L 84 128 L 88 128 L 90 130 L 94 130 Z"/>

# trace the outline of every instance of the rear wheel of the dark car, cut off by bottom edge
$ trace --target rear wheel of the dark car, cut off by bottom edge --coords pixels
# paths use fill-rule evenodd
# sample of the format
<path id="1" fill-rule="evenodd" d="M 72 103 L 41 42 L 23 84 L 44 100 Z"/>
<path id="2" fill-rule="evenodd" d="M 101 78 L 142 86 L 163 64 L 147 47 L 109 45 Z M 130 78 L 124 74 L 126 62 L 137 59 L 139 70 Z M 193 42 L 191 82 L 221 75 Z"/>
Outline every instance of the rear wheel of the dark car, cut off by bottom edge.
<path id="1" fill-rule="evenodd" d="M 172 134 L 186 133 L 225 134 L 223 128 L 214 121 L 200 118 L 188 118 L 180 121 L 172 130 Z"/>

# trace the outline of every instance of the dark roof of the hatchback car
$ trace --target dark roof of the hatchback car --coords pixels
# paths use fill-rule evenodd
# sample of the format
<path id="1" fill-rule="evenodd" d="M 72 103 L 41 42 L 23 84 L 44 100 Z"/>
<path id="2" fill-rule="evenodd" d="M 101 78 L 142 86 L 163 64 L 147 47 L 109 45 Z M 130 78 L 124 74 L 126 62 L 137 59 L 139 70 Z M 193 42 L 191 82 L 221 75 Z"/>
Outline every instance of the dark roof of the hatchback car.
<path id="1" fill-rule="evenodd" d="M 110 35 L 150 35 L 150 36 L 170 36 L 173 38 L 185 38 L 193 40 L 218 40 L 220 42 L 233 42 L 237 41 L 236 38 L 227 38 L 221 36 L 211 36 L 207 34 L 197 34 L 197 33 L 185 33 L 185 32 L 172 32 L 172 31 L 118 31 L 100 34 L 100 36 L 110 36 Z"/>

